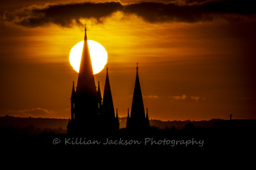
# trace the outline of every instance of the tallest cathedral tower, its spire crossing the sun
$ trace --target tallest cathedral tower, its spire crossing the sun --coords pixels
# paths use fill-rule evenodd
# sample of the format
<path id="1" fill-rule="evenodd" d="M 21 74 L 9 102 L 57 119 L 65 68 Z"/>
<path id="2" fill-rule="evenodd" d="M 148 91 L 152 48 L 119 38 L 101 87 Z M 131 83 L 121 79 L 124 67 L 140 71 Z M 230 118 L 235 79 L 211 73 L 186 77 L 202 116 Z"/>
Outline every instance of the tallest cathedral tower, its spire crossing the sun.
<path id="1" fill-rule="evenodd" d="M 76 133 L 91 131 L 96 129 L 96 121 L 99 112 L 99 99 L 96 90 L 94 72 L 91 65 L 91 56 L 87 42 L 85 27 L 85 38 L 83 43 L 83 52 L 79 68 L 76 91 L 74 83 L 71 97 L 71 120 L 68 128 Z M 90 130 L 89 130 L 90 129 Z M 69 131 L 69 130 L 68 130 Z"/>

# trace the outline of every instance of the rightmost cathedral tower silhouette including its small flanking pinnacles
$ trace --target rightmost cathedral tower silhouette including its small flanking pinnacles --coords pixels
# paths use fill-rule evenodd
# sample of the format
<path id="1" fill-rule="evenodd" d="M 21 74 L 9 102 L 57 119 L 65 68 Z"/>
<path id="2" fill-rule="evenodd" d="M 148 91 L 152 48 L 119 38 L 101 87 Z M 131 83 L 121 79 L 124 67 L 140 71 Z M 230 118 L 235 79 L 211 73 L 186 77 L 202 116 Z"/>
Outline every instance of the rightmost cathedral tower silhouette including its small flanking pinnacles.
<path id="1" fill-rule="evenodd" d="M 134 92 L 132 97 L 132 109 L 129 116 L 129 109 L 128 109 L 128 116 L 126 122 L 127 129 L 136 129 L 136 130 L 145 130 L 150 127 L 150 120 L 147 116 L 145 116 L 145 109 L 143 104 L 143 98 L 141 93 L 141 85 L 139 83 L 139 73 L 138 73 L 138 66 L 137 66 L 137 75 L 135 80 Z"/>

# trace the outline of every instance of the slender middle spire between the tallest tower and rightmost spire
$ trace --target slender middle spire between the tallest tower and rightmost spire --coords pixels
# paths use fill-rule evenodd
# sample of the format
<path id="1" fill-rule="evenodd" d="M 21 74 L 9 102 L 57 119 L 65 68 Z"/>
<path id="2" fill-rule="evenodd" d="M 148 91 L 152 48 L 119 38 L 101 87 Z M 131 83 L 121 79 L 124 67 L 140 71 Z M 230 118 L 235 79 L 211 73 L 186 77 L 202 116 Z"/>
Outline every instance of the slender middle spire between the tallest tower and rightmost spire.
<path id="1" fill-rule="evenodd" d="M 102 109 L 103 114 L 108 118 L 115 118 L 115 110 L 113 105 L 112 93 L 109 83 L 109 73 L 108 67 L 106 67 L 106 81 L 104 86 L 103 100 L 102 100 Z"/>

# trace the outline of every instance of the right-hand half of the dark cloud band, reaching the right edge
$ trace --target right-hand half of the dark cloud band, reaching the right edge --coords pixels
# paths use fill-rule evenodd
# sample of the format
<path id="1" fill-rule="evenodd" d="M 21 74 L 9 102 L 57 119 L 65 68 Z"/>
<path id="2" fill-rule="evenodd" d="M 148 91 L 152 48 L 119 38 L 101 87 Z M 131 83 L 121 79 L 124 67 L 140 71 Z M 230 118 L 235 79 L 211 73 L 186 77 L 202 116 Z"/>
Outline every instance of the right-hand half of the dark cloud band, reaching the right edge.
<path id="1" fill-rule="evenodd" d="M 124 12 L 137 14 L 148 22 L 199 22 L 213 20 L 214 16 L 231 20 L 256 13 L 254 1 L 204 1 L 194 5 L 179 4 L 181 3 L 134 3 L 124 6 Z M 253 17 L 255 19 L 255 16 Z"/>

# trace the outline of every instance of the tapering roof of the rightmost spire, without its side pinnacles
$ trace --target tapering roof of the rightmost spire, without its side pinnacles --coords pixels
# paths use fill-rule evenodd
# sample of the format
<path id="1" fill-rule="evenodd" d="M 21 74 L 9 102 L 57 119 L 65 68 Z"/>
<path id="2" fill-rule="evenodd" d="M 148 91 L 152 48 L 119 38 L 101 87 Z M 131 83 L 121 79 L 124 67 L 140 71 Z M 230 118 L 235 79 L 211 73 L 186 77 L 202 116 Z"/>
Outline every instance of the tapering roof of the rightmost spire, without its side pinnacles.
<path id="1" fill-rule="evenodd" d="M 137 63 L 137 75 L 136 75 L 133 98 L 132 98 L 132 109 L 130 112 L 130 118 L 135 120 L 145 119 L 145 110 L 144 110 L 143 98 L 141 93 L 141 85 L 139 83 L 138 63 Z"/>

